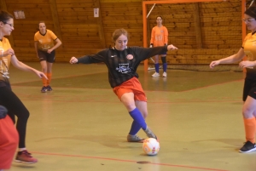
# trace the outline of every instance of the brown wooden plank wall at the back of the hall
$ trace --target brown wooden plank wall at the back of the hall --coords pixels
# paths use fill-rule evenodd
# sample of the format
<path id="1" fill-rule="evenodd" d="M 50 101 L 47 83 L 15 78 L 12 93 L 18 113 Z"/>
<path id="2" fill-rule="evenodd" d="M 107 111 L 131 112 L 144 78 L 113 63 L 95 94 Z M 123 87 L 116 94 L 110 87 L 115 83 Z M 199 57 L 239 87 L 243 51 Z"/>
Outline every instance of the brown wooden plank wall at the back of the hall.
<path id="1" fill-rule="evenodd" d="M 39 20 L 44 20 L 49 30 L 59 31 L 61 35 L 62 45 L 57 49 L 56 61 L 67 62 L 73 55 L 95 54 L 102 48 L 112 47 L 112 34 L 118 28 L 129 32 L 129 46 L 143 46 L 142 0 L 5 2 L 11 14 L 14 10 L 24 10 L 26 15 L 24 20 L 15 20 L 12 33 L 13 48 L 20 60 L 38 61 L 33 36 L 38 31 Z M 53 2 L 55 11 L 50 6 Z M 148 11 L 152 6 L 148 5 Z M 95 8 L 100 9 L 99 18 L 94 17 Z M 208 64 L 211 60 L 236 53 L 241 47 L 241 0 L 156 4 L 148 17 L 149 31 L 156 25 L 158 15 L 163 17 L 163 24 L 169 31 L 169 43 L 179 48 L 177 52 L 168 52 L 168 63 Z M 198 37 L 201 37 L 201 43 Z"/>

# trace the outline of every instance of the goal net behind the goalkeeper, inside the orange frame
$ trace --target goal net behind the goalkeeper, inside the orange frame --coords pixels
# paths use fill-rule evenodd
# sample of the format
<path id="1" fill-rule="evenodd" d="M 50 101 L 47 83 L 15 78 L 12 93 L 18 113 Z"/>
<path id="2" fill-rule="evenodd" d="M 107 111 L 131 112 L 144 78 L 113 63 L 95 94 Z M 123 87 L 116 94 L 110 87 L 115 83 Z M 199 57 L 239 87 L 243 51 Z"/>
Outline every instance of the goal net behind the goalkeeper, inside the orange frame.
<path id="1" fill-rule="evenodd" d="M 148 46 L 156 17 L 161 16 L 169 33 L 168 43 L 178 48 L 167 53 L 168 69 L 212 71 L 209 68 L 212 60 L 236 54 L 241 48 L 241 0 L 155 3 L 147 4 L 146 9 L 150 11 L 147 18 Z M 153 60 L 148 60 L 148 67 L 154 67 Z M 213 71 L 242 69 L 233 64 L 219 65 Z"/>

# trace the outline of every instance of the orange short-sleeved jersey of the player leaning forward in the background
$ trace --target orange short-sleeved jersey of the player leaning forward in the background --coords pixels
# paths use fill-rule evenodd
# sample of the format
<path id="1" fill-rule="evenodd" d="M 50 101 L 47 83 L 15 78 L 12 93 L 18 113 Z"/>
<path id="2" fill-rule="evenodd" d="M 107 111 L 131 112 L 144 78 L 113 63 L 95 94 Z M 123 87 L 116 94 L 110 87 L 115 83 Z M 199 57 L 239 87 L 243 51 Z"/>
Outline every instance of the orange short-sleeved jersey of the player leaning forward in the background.
<path id="1" fill-rule="evenodd" d="M 53 31 L 46 30 L 45 35 L 42 35 L 40 31 L 38 31 L 34 36 L 34 41 L 38 42 L 38 50 L 47 51 L 49 48 L 55 46 L 55 40 L 57 38 Z"/>

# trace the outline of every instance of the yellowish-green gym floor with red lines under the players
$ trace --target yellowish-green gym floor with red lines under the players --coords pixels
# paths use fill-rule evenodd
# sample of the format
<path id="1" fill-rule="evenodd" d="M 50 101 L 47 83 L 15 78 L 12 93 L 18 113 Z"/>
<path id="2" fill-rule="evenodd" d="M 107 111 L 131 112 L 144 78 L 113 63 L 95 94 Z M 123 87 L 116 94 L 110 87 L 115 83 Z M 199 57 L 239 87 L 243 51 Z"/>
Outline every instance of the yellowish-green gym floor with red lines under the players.
<path id="1" fill-rule="evenodd" d="M 35 75 L 10 70 L 12 88 L 31 113 L 26 146 L 38 158 L 13 162 L 10 171 L 256 170 L 256 152 L 238 152 L 245 141 L 241 72 L 168 70 L 163 78 L 139 66 L 146 121 L 160 139 L 154 157 L 141 143 L 126 142 L 131 117 L 108 84 L 106 66 L 55 63 L 53 73 L 53 92 L 42 94 Z"/>

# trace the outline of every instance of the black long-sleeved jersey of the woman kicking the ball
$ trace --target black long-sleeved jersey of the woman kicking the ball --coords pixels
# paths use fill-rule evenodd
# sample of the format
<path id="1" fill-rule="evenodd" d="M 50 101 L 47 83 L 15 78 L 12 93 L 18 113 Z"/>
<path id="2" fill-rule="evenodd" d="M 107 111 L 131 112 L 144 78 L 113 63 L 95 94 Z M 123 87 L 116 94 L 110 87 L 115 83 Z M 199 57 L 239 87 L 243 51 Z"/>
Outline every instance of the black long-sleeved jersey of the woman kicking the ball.
<path id="1" fill-rule="evenodd" d="M 132 77 L 138 77 L 136 71 L 141 61 L 156 54 L 166 53 L 166 51 L 167 46 L 154 48 L 128 47 L 121 51 L 115 48 L 107 48 L 97 54 L 85 55 L 79 58 L 78 63 L 104 62 L 108 67 L 108 82 L 114 88 Z"/>

